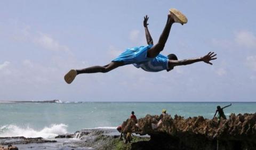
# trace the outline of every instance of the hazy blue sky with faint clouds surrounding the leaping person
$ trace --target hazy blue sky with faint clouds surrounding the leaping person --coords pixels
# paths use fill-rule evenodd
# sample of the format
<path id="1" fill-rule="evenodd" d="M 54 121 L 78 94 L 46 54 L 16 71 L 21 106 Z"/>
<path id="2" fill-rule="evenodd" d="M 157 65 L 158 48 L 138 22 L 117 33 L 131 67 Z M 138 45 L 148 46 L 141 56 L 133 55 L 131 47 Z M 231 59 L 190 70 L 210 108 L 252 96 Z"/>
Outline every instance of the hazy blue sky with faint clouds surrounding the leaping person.
<path id="1" fill-rule="evenodd" d="M 1 1 L 0 100 L 256 101 L 255 1 Z M 143 16 L 155 43 L 168 10 L 188 18 L 173 24 L 162 54 L 196 63 L 150 73 L 133 65 L 82 74 L 127 47 L 146 45 Z"/>

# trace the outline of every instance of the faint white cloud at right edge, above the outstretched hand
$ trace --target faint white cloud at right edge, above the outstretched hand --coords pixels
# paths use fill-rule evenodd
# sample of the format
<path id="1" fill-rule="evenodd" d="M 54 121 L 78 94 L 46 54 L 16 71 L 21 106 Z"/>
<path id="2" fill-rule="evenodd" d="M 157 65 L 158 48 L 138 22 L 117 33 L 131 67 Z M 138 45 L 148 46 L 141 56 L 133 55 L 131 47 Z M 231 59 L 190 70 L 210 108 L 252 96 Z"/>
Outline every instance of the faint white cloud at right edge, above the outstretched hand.
<path id="1" fill-rule="evenodd" d="M 247 48 L 256 48 L 256 37 L 252 32 L 239 31 L 236 34 L 235 41 L 241 46 L 245 46 Z"/>

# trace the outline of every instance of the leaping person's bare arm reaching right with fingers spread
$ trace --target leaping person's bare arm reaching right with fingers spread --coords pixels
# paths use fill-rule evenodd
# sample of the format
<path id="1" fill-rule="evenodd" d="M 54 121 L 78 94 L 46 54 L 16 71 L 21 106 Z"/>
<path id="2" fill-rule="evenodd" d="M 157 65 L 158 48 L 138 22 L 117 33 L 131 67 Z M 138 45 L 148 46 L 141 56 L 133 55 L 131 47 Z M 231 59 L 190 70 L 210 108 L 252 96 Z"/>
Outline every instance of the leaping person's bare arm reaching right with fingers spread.
<path id="1" fill-rule="evenodd" d="M 216 56 L 217 54 L 214 54 L 214 52 L 209 52 L 207 55 L 203 56 L 203 57 L 199 57 L 199 58 L 196 58 L 196 59 L 187 59 L 187 60 L 169 60 L 168 62 L 168 66 L 169 68 L 173 67 L 173 66 L 177 66 L 177 65 L 187 65 L 187 64 L 192 64 L 192 63 L 195 63 L 195 62 L 205 62 L 205 63 L 208 63 L 208 64 L 211 64 L 212 63 L 210 62 L 211 60 L 215 60 L 217 59 L 217 57 L 214 57 Z"/>

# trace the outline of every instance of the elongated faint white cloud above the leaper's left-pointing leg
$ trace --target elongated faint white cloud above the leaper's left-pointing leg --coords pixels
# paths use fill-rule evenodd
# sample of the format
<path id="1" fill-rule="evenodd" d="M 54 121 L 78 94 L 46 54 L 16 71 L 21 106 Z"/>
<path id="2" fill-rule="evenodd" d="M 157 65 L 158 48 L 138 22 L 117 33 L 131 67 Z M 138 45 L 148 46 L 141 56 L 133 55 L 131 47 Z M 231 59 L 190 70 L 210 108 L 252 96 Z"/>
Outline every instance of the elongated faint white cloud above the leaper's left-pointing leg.
<path id="1" fill-rule="evenodd" d="M 36 44 L 52 51 L 65 51 L 68 52 L 69 48 L 65 45 L 60 45 L 59 42 L 53 39 L 50 35 L 39 33 L 37 37 L 34 37 Z"/>

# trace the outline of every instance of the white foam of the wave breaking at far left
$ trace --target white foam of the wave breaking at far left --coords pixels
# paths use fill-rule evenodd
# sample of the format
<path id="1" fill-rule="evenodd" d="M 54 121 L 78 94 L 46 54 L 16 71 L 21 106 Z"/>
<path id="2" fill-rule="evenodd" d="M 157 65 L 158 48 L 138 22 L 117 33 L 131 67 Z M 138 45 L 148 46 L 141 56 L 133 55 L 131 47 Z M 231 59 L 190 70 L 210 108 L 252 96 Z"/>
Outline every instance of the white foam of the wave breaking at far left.
<path id="1" fill-rule="evenodd" d="M 46 139 L 54 138 L 55 136 L 67 134 L 66 124 L 52 124 L 50 127 L 44 127 L 42 130 L 35 130 L 30 127 L 21 128 L 13 124 L 0 127 L 0 137 L 18 137 L 26 138 L 42 137 Z"/>

